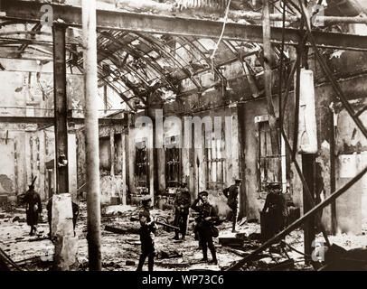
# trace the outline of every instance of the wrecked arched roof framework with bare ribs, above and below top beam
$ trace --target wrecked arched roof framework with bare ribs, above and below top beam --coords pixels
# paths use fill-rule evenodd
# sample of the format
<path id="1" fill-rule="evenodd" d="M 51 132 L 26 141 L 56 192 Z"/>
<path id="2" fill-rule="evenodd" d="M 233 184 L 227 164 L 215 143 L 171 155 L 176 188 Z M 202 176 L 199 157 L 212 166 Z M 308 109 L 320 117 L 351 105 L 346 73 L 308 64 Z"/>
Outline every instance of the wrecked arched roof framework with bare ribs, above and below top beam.
<path id="1" fill-rule="evenodd" d="M 7 0 L 3 1 L 3 5 L 7 2 Z M 32 0 L 13 1 L 13 5 L 14 2 L 30 5 L 34 3 Z M 37 1 L 41 4 L 42 2 Z M 49 2 L 44 1 L 44 4 Z M 52 1 L 58 7 L 65 7 L 65 9 L 80 6 L 80 2 L 80 0 Z M 329 8 L 326 12 L 338 14 L 342 11 L 338 10 L 341 7 L 344 7 L 344 11 L 349 15 L 355 15 L 358 9 L 363 11 L 364 8 L 357 0 L 351 3 L 327 1 Z M 278 4 L 278 1 L 274 4 Z M 165 14 L 174 16 L 174 19 L 184 19 L 182 17 L 187 15 L 221 21 L 228 5 L 228 0 L 98 1 L 98 7 L 101 10 Z M 232 0 L 227 21 L 260 24 L 261 6 L 262 1 L 259 0 Z M 279 6 L 275 5 L 274 12 L 277 13 L 277 10 L 280 11 Z M 249 17 L 249 13 L 258 14 Z M 247 20 L 241 17 L 244 14 L 247 15 Z M 287 1 L 287 14 L 299 14 L 296 2 Z M 58 18 L 53 20 L 56 23 L 63 23 L 63 20 Z M 169 30 L 170 27 L 166 29 Z M 218 45 L 220 32 L 217 34 L 218 37 L 198 37 L 184 34 L 145 33 L 138 30 L 99 29 L 97 40 L 99 86 L 107 85 L 113 89 L 131 110 L 136 111 L 146 107 L 146 98 L 152 93 L 160 97 L 162 103 L 174 100 L 182 92 L 183 83 L 185 86 L 194 87 L 198 93 L 208 89 L 200 78 L 203 73 L 212 73 L 212 79 L 225 83 L 226 75 L 221 68 L 239 59 L 243 61 L 247 57 L 252 57 L 250 61 L 252 67 L 249 67 L 249 70 L 252 70 L 251 72 L 262 70 L 260 42 L 223 39 Z M 66 36 L 67 65 L 71 73 L 80 73 L 83 70 L 80 27 L 68 28 Z M 277 44 L 273 43 L 273 49 L 277 56 L 279 51 Z M 0 58 L 33 59 L 39 61 L 40 65 L 52 61 L 52 28 L 42 26 L 41 23 L 24 23 L 22 19 L 3 17 L 0 30 Z"/>

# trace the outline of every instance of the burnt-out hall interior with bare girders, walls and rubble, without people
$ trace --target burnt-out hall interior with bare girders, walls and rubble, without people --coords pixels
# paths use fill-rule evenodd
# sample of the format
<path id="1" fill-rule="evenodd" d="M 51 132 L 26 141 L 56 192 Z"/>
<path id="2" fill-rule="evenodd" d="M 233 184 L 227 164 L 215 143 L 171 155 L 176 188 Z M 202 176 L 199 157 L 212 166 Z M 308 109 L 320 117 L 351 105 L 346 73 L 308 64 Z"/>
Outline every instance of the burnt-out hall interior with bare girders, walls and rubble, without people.
<path id="1" fill-rule="evenodd" d="M 0 1 L 0 268 L 134 271 L 149 197 L 155 270 L 367 269 L 366 25 L 362 0 Z M 173 239 L 183 182 L 218 213 L 218 264 L 193 210 Z"/>

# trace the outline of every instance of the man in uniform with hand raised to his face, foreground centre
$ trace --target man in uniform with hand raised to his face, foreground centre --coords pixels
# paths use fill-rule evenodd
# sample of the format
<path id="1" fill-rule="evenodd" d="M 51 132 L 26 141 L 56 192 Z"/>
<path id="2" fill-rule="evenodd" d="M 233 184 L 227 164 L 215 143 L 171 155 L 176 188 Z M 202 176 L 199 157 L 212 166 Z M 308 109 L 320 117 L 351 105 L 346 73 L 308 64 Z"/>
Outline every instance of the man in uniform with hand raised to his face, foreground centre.
<path id="1" fill-rule="evenodd" d="M 199 205 L 199 202 L 202 204 Z M 219 220 L 219 217 L 217 210 L 208 202 L 208 192 L 200 192 L 199 198 L 193 201 L 191 208 L 199 212 L 199 217 L 196 219 L 196 229 L 202 247 L 202 261 L 208 262 L 207 254 L 209 247 L 212 253 L 212 261 L 210 263 L 217 264 L 217 255 L 214 244 L 212 243 L 212 226 L 215 221 Z"/>

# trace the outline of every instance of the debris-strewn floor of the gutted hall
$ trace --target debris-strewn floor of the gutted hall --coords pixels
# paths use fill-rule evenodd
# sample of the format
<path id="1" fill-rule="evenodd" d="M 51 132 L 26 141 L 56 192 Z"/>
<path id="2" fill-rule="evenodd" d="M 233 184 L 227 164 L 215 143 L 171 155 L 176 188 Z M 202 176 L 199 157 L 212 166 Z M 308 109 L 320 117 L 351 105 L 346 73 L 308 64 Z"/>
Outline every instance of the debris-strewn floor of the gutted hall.
<path id="1" fill-rule="evenodd" d="M 102 209 L 101 243 L 103 270 L 105 271 L 133 271 L 136 270 L 140 255 L 139 236 L 135 230 L 139 228 L 137 221 L 130 220 L 137 217 L 138 209 L 131 206 L 109 206 Z M 172 211 L 152 210 L 151 215 L 165 223 L 171 223 L 174 219 Z M 38 225 L 37 235 L 30 237 L 29 226 L 25 222 L 25 210 L 22 208 L 3 207 L 0 210 L 0 247 L 10 256 L 15 263 L 28 270 L 50 270 L 52 266 L 53 245 L 47 238 L 49 226 L 47 223 L 47 210 L 42 212 L 43 222 Z M 125 231 L 117 234 L 106 229 L 118 228 Z M 240 221 L 237 227 L 237 237 L 241 238 L 240 246 L 233 244 L 222 246 L 220 239 L 234 239 L 236 234 L 231 233 L 231 222 L 223 222 L 219 238 L 214 238 L 217 249 L 218 266 L 201 263 L 202 250 L 198 242 L 193 238 L 193 218 L 190 218 L 188 234 L 184 241 L 175 241 L 174 232 L 166 231 L 158 226 L 158 234 L 155 238 L 155 271 L 194 271 L 212 270 L 220 271 L 231 266 L 235 261 L 249 255 L 258 248 L 260 226 L 258 223 Z M 367 227 L 364 226 L 361 236 L 340 234 L 330 236 L 332 244 L 343 247 L 346 250 L 353 248 L 365 248 Z M 87 244 L 87 208 L 86 203 L 80 203 L 80 217 L 78 219 L 76 234 L 79 238 L 79 269 L 88 270 L 88 244 Z M 321 234 L 317 241 L 322 242 Z M 285 242 L 297 251 L 302 252 L 303 231 L 297 229 L 285 238 Z M 231 243 L 231 242 L 230 242 Z M 287 252 L 287 254 L 285 253 Z M 211 254 L 208 250 L 208 257 Z M 293 259 L 291 266 L 287 266 L 287 260 Z M 243 267 L 243 270 L 314 270 L 312 266 L 306 266 L 304 256 L 289 247 L 280 250 L 272 247 L 264 251 L 259 260 Z M 144 266 L 147 270 L 147 266 Z"/>

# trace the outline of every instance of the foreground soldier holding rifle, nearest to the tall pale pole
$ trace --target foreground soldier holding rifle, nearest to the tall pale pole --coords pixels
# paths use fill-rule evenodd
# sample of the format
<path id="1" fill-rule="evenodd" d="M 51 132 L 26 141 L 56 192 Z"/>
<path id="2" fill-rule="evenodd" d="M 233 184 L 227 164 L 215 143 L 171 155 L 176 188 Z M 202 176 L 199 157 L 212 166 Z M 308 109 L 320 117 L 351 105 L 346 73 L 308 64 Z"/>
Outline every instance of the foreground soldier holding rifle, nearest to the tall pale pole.
<path id="1" fill-rule="evenodd" d="M 140 242 L 141 242 L 141 255 L 139 258 L 139 264 L 136 271 L 142 271 L 146 257 L 148 257 L 148 271 L 153 271 L 154 259 L 155 259 L 155 224 L 150 219 L 149 213 L 143 210 L 139 214 L 140 221 Z"/>

